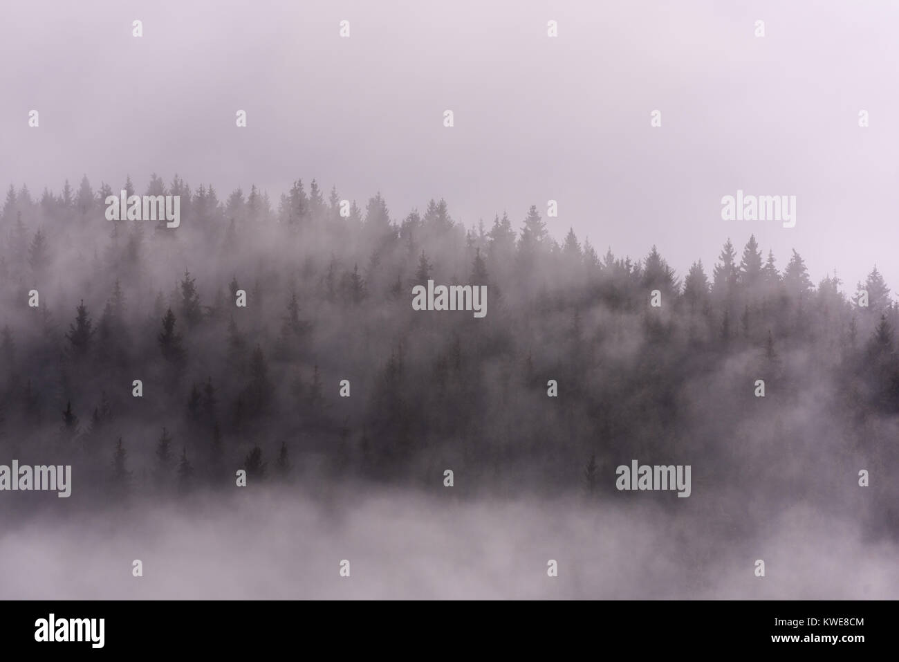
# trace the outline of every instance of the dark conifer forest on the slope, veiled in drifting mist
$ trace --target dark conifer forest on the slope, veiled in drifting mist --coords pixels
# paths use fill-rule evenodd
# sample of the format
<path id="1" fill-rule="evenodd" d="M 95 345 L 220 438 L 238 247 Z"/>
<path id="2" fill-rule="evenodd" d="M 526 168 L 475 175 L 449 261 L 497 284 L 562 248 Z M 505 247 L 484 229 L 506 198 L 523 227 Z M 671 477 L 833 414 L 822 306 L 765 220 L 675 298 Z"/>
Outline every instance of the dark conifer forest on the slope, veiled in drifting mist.
<path id="1" fill-rule="evenodd" d="M 815 284 L 753 236 L 679 273 L 654 246 L 559 241 L 537 205 L 466 228 L 443 200 L 396 214 L 315 180 L 220 200 L 153 174 L 144 194 L 180 196 L 167 228 L 107 220 L 120 188 L 10 185 L 0 214 L 2 461 L 71 464 L 64 501 L 191 499 L 236 470 L 439 491 L 449 469 L 463 497 L 792 500 L 899 537 L 899 309 L 876 266 Z M 485 285 L 489 312 L 415 310 L 429 280 Z M 692 497 L 619 493 L 632 458 L 692 465 Z"/>

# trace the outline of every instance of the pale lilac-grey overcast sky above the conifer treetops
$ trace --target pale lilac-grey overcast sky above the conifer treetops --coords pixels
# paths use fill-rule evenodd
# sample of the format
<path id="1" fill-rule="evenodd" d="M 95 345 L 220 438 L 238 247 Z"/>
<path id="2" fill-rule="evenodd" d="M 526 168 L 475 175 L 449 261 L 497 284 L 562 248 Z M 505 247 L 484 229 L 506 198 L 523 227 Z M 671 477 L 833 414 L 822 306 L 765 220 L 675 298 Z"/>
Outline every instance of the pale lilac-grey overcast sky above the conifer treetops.
<path id="1" fill-rule="evenodd" d="M 87 174 L 118 190 L 131 174 L 142 192 L 151 172 L 177 172 L 220 198 L 256 183 L 277 201 L 316 177 L 363 205 L 382 192 L 397 219 L 442 196 L 467 226 L 508 210 L 516 228 L 555 199 L 556 238 L 573 226 L 634 256 L 656 244 L 679 275 L 755 233 L 781 268 L 796 247 L 814 282 L 837 269 L 854 285 L 877 263 L 899 290 L 899 4 L 32 0 L 3 13 L 4 187 L 58 192 Z M 796 227 L 722 220 L 737 189 L 796 195 Z"/>

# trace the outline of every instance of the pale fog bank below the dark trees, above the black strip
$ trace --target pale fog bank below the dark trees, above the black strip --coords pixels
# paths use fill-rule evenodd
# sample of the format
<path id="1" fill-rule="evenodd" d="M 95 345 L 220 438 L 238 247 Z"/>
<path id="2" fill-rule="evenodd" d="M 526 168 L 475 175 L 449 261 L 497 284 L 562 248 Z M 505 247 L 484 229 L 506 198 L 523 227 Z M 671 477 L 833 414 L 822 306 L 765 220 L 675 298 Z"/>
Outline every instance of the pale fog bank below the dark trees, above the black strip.
<path id="1" fill-rule="evenodd" d="M 743 541 L 721 534 L 726 519 L 634 501 L 203 499 L 191 512 L 174 503 L 4 528 L 0 598 L 899 598 L 895 543 L 805 506 Z M 755 559 L 766 577 L 753 576 Z"/>

